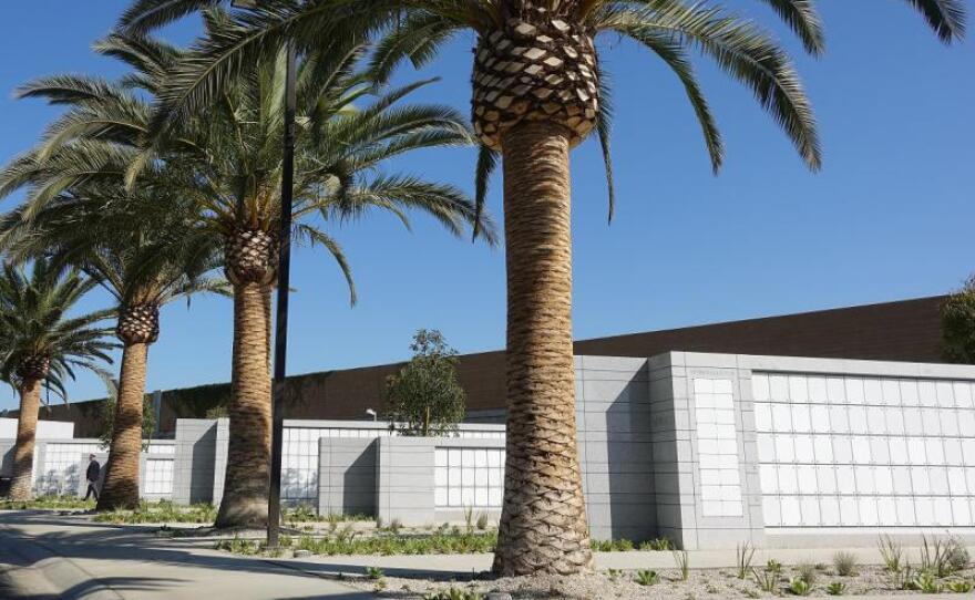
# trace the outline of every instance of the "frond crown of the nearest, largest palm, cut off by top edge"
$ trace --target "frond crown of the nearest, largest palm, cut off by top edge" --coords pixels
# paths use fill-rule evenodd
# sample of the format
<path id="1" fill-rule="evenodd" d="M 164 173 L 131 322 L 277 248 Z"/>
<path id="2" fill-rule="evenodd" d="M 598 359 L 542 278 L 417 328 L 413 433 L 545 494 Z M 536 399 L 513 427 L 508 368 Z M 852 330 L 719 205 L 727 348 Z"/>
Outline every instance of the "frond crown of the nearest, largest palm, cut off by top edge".
<path id="1" fill-rule="evenodd" d="M 812 54 L 823 51 L 822 23 L 813 0 L 759 1 L 769 6 L 784 21 L 807 51 Z M 942 41 L 947 43 L 963 35 L 964 9 L 958 0 L 906 1 L 923 15 Z M 121 23 L 130 30 L 144 31 L 219 3 L 220 0 L 135 0 L 123 14 Z M 560 21 L 565 25 L 565 31 L 548 27 L 540 35 L 536 30 L 538 14 L 544 14 L 541 22 L 547 24 L 552 20 Z M 505 35 L 512 30 L 517 33 L 520 24 L 530 28 L 524 30 L 525 35 L 521 40 Z M 609 182 L 612 216 L 612 111 L 605 79 L 598 69 L 598 56 L 591 41 L 601 33 L 632 39 L 670 68 L 694 108 L 716 172 L 723 161 L 723 143 L 695 75 L 690 60 L 690 51 L 694 50 L 714 60 L 721 70 L 751 89 L 761 106 L 792 141 L 807 165 L 812 169 L 821 166 L 822 152 L 811 106 L 781 46 L 749 20 L 717 7 L 691 4 L 682 0 L 261 0 L 256 9 L 238 12 L 237 18 L 227 23 L 219 34 L 205 38 L 184 60 L 173 65 L 172 76 L 158 90 L 161 110 L 153 130 L 163 130 L 212 104 L 222 90 L 240 74 L 244 65 L 252 64 L 259 56 L 278 52 L 285 38 L 295 40 L 300 49 L 340 49 L 355 46 L 376 32 L 386 32 L 388 34 L 379 44 L 372 61 L 376 72 L 382 76 L 401 59 L 409 59 L 415 65 L 424 63 L 463 30 L 473 30 L 479 35 L 474 123 L 485 144 L 478 168 L 479 206 L 484 199 L 486 177 L 496 163 L 493 151 L 500 147 L 497 133 L 499 125 L 504 124 L 504 111 L 511 105 L 511 97 L 523 95 L 506 92 L 517 85 L 527 85 L 541 90 L 540 93 L 550 93 L 547 87 L 551 86 L 545 80 L 558 77 L 558 73 L 566 71 L 582 53 L 592 56 L 588 65 L 592 76 L 579 73 L 577 79 L 582 80 L 582 84 L 569 86 L 560 87 L 563 83 L 560 81 L 552 92 L 568 92 L 575 101 L 579 92 L 587 96 L 579 108 L 582 118 L 571 123 L 571 128 L 578 134 L 577 139 L 591 131 L 598 134 Z M 578 41 L 567 40 L 568 43 L 564 43 L 566 40 L 560 39 L 561 33 L 585 38 L 589 41 L 592 52 L 586 52 L 585 43 L 579 52 Z M 531 43 L 520 43 L 525 41 Z M 491 53 L 491 49 L 496 49 L 499 43 L 516 52 L 507 52 L 506 55 Z M 566 46 L 569 56 L 563 55 Z M 538 54 L 538 50 L 545 52 Z M 479 73 L 476 69 L 489 61 L 524 68 L 525 59 L 538 66 L 535 76 L 527 80 L 506 77 L 503 69 L 495 69 L 499 72 L 494 73 L 484 73 L 483 70 Z M 553 61 L 548 68 L 546 60 Z M 523 70 L 517 72 L 522 74 Z M 571 76 L 575 75 L 573 73 Z M 486 85 L 485 77 L 489 79 Z M 499 85 L 507 79 L 513 81 Z M 592 85 L 586 86 L 586 83 Z M 485 102 L 485 96 L 492 93 L 492 99 Z M 507 104 L 503 107 L 499 104 L 491 106 L 499 97 L 507 97 L 502 100 Z M 544 104 L 548 97 L 545 95 L 540 104 Z M 566 97 L 569 96 L 556 100 L 564 102 Z M 519 106 L 516 103 L 514 105 Z M 519 110 L 522 114 L 531 115 L 532 112 Z M 589 111 L 592 114 L 586 114 Z M 499 117 L 494 118 L 494 123 L 485 122 L 485 113 L 490 116 L 492 112 L 501 113 L 502 123 L 496 123 Z M 512 117 L 512 114 L 507 116 Z"/>

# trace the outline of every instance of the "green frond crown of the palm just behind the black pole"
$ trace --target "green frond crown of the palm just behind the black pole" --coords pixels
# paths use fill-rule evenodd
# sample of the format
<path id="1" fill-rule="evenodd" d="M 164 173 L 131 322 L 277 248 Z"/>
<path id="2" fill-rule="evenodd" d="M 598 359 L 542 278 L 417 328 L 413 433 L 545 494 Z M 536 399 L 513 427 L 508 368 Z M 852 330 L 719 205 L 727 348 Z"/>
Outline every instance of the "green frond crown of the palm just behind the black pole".
<path id="1" fill-rule="evenodd" d="M 226 14 L 208 11 L 207 23 L 217 34 L 227 27 Z M 113 34 L 95 48 L 132 65 L 133 73 L 119 82 L 62 75 L 23 86 L 21 96 L 45 97 L 70 108 L 49 127 L 37 148 L 4 169 L 0 195 L 29 186 L 19 211 L 21 220 L 29 223 L 64 189 L 121 174 L 131 190 L 158 186 L 170 198 L 195 203 L 195 231 L 226 240 L 232 262 L 239 262 L 239 255 L 250 250 L 235 247 L 235 237 L 243 234 L 248 240 L 258 240 L 268 254 L 261 262 L 273 270 L 270 255 L 280 213 L 284 54 L 276 52 L 245 80 L 224 90 L 205 117 L 187 120 L 165 138 L 145 145 L 152 105 L 143 95 L 160 91 L 162 77 L 181 51 L 144 35 L 123 34 Z M 380 209 L 408 225 L 407 211 L 414 208 L 432 215 L 454 234 L 461 232 L 465 223 L 476 221 L 494 241 L 490 220 L 476 214 L 460 189 L 382 173 L 384 162 L 401 153 L 468 145 L 472 136 L 451 108 L 397 106 L 429 81 L 384 90 L 356 70 L 362 53 L 363 48 L 357 46 L 338 58 L 309 55 L 297 79 L 294 234 L 298 242 L 320 245 L 337 259 L 353 301 L 348 262 L 322 228 L 326 223 Z M 371 103 L 359 107 L 370 97 Z M 90 197 L 84 201 L 92 205 L 99 200 Z M 64 200 L 58 198 L 55 204 Z M 80 200 L 74 198 L 70 204 L 78 207 Z M 229 269 L 228 275 L 236 273 Z"/>

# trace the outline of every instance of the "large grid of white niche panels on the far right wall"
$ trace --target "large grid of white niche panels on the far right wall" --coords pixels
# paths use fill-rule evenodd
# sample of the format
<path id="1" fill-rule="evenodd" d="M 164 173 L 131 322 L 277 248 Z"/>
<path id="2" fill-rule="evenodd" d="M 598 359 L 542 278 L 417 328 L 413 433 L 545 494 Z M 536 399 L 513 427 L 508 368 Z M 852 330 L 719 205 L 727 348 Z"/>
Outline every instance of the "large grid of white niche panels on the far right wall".
<path id="1" fill-rule="evenodd" d="M 767 527 L 975 525 L 975 384 L 752 375 Z"/>

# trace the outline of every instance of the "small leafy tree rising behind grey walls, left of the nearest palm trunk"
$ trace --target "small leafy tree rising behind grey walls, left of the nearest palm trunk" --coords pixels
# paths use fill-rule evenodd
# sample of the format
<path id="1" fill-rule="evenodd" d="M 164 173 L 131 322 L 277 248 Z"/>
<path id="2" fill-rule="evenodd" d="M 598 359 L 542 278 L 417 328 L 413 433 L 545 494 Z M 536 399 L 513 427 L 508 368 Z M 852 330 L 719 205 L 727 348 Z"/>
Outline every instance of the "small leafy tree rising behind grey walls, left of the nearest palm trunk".
<path id="1" fill-rule="evenodd" d="M 443 334 L 421 329 L 413 358 L 386 382 L 387 416 L 404 435 L 441 435 L 464 417 L 466 394 L 456 377 L 456 350 Z"/>

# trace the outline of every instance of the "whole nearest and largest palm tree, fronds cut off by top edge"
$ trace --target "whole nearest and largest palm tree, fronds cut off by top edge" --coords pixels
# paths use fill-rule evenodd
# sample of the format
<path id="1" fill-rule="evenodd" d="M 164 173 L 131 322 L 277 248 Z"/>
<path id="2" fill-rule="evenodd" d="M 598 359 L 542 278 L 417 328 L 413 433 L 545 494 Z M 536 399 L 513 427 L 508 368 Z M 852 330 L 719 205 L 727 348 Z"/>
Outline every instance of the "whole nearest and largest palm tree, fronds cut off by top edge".
<path id="1" fill-rule="evenodd" d="M 135 0 L 122 18 L 132 29 L 160 25 L 217 0 Z M 818 53 L 822 31 L 812 0 L 764 0 Z M 958 0 L 909 0 L 945 41 L 963 31 Z M 473 121 L 483 144 L 478 190 L 503 156 L 507 261 L 507 463 L 494 568 L 505 575 L 575 572 L 592 556 L 575 444 L 572 361 L 569 151 L 592 132 L 603 144 L 607 175 L 609 111 L 596 51 L 601 33 L 636 41 L 678 76 L 717 170 L 723 156 L 710 107 L 688 51 L 712 59 L 750 87 L 818 169 L 812 111 L 783 50 L 752 22 L 720 8 L 682 0 L 264 0 L 239 13 L 227 34 L 198 44 L 161 92 L 157 127 L 198 111 L 240 64 L 299 48 L 355 43 L 392 33 L 376 59 L 421 64 L 454 34 L 478 35 Z M 406 11 L 406 13 L 403 13 Z M 610 177 L 610 216 L 613 206 Z"/>

